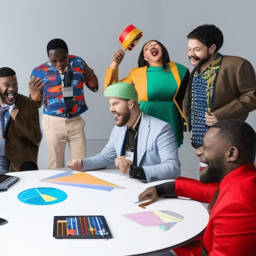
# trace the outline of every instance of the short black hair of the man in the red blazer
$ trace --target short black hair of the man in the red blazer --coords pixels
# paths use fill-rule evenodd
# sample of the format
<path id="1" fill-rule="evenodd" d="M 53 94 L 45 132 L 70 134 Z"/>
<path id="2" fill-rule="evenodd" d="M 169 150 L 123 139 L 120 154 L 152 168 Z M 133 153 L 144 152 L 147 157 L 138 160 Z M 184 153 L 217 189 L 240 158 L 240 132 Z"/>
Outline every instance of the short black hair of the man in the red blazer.
<path id="1" fill-rule="evenodd" d="M 221 139 L 236 146 L 239 151 L 246 151 L 248 157 L 254 161 L 256 132 L 248 123 L 238 119 L 226 119 L 214 123 L 211 127 L 219 128 L 217 135 Z"/>

